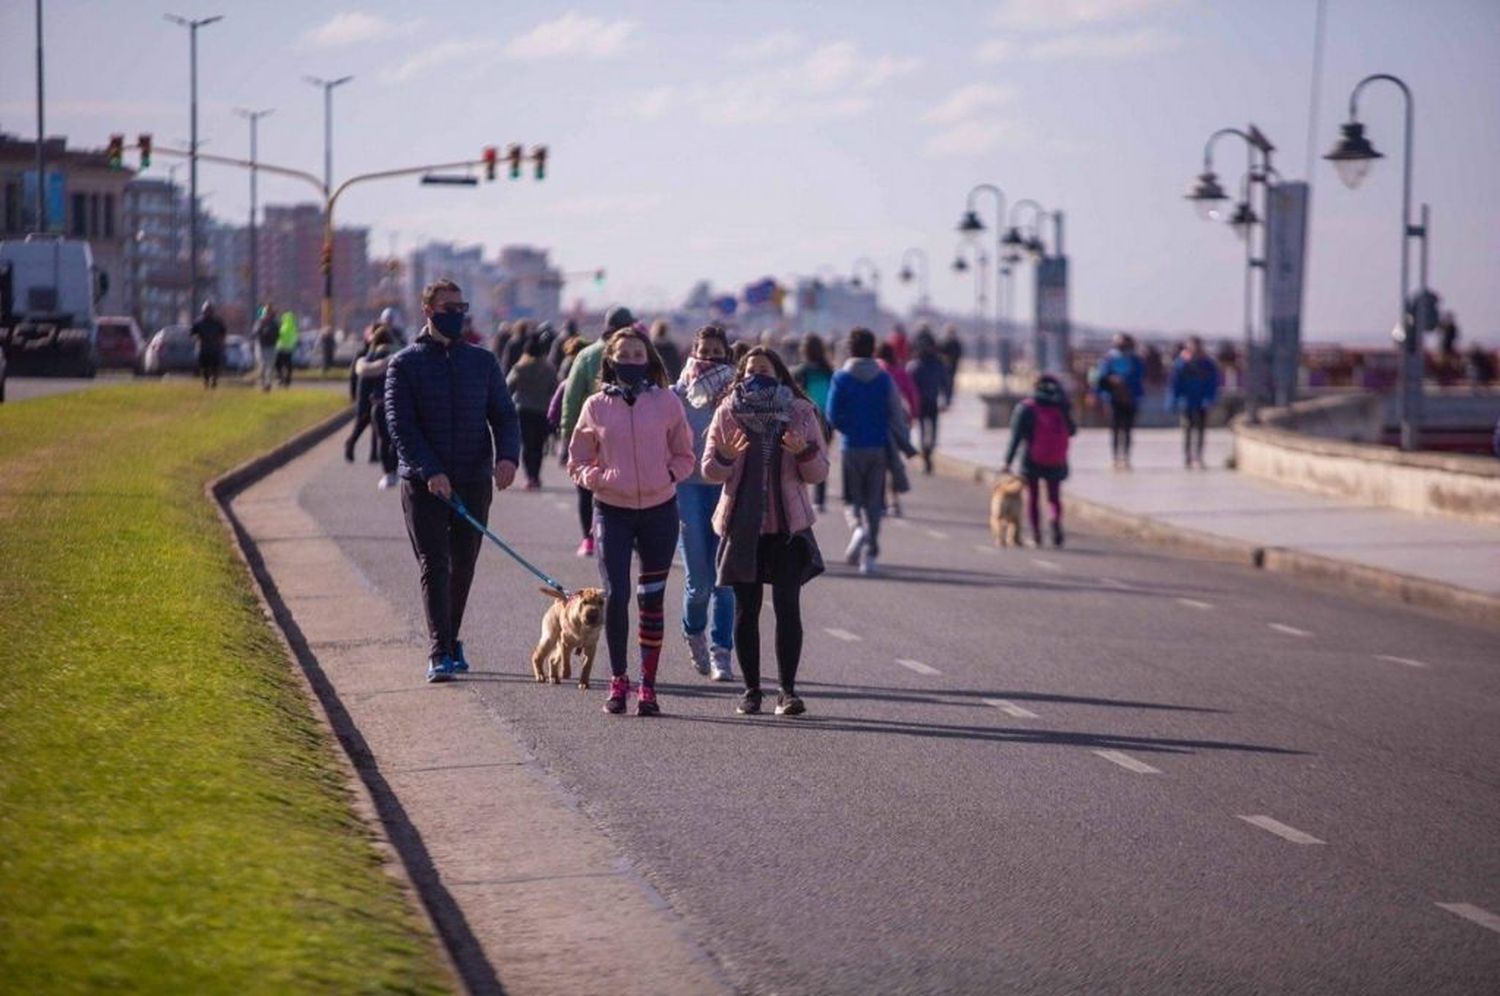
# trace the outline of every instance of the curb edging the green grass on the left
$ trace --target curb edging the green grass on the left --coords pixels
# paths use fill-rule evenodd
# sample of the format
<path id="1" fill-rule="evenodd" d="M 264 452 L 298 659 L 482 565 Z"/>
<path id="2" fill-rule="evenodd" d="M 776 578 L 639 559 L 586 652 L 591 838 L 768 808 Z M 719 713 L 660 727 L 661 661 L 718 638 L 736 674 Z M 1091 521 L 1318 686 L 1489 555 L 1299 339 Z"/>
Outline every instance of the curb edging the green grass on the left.
<path id="1" fill-rule="evenodd" d="M 354 406 L 350 405 L 309 429 L 303 429 L 280 446 L 240 464 L 219 477 L 214 477 L 204 484 L 204 495 L 213 504 L 224 528 L 234 538 L 236 556 L 238 556 L 254 582 L 252 586 L 255 590 L 255 600 L 260 603 L 261 612 L 266 614 L 266 620 L 272 624 L 272 630 L 276 633 L 276 640 L 280 644 L 282 651 L 286 654 L 286 662 L 291 664 L 290 670 L 296 675 L 303 696 L 306 698 L 309 706 L 312 706 L 314 717 L 328 735 L 328 740 L 339 746 L 339 750 L 334 752 L 334 758 L 344 772 L 344 782 L 350 788 L 352 810 L 369 831 L 372 844 L 382 858 L 381 864 L 386 873 L 396 882 L 398 888 L 406 897 L 411 908 L 417 910 L 417 915 L 426 926 L 432 948 L 438 952 L 438 957 L 447 969 L 448 981 L 453 984 L 453 988 L 474 992 L 474 988 L 468 986 L 468 980 L 459 970 L 459 966 L 453 958 L 453 952 L 446 942 L 446 934 L 438 926 L 438 918 L 429 906 L 426 892 L 417 885 L 408 855 L 396 846 L 390 834 L 386 831 L 388 820 L 393 816 L 399 819 L 399 814 L 393 814 L 390 812 L 390 801 L 382 798 L 386 790 L 382 790 L 381 786 L 372 786 L 364 777 L 362 765 L 357 762 L 357 746 L 346 735 L 346 730 L 340 729 L 340 723 L 334 722 L 333 712 L 330 711 L 330 702 L 326 698 L 326 690 L 321 688 L 321 684 L 326 682 L 320 682 L 316 680 L 316 664 L 310 663 L 304 652 L 294 646 L 286 628 L 286 622 L 290 621 L 286 608 L 280 598 L 274 596 L 274 585 L 266 573 L 266 566 L 255 549 L 255 543 L 250 540 L 249 532 L 246 532 L 243 524 L 231 507 L 236 495 L 297 459 L 352 420 Z"/>

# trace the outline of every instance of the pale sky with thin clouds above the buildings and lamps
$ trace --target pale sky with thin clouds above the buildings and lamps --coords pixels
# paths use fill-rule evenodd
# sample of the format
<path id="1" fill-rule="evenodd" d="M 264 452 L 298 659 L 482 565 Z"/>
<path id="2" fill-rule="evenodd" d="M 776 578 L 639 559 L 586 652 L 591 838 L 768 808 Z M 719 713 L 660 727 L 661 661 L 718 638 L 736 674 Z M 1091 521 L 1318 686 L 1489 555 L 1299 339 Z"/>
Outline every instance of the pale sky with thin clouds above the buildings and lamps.
<path id="1" fill-rule="evenodd" d="M 0 130 L 22 136 L 36 129 L 33 6 L 0 3 Z M 954 228 L 970 188 L 993 183 L 1065 213 L 1076 320 L 1238 334 L 1242 248 L 1182 195 L 1210 132 L 1256 123 L 1280 172 L 1312 183 L 1305 334 L 1382 340 L 1398 310 L 1400 93 L 1360 98 L 1386 153 L 1364 186 L 1317 156 L 1353 86 L 1389 72 L 1416 99 L 1431 284 L 1467 338 L 1500 344 L 1497 0 L 1326 0 L 1316 104 L 1317 0 L 45 0 L 48 134 L 186 146 L 188 38 L 165 12 L 225 18 L 200 32 L 204 152 L 248 154 L 234 108 L 274 108 L 261 159 L 321 174 L 322 98 L 304 76 L 352 75 L 334 94 L 336 178 L 549 148 L 540 183 L 351 189 L 338 220 L 369 225 L 372 252 L 543 246 L 567 272 L 608 270 L 568 300 L 645 308 L 699 279 L 738 290 L 868 256 L 884 303 L 904 309 L 916 290 L 896 276 L 916 248 L 933 300 L 969 310 Z M 1218 142 L 1227 189 L 1244 162 L 1238 140 Z M 200 188 L 218 216 L 246 218 L 243 171 L 201 165 Z M 262 204 L 294 200 L 306 188 L 262 174 Z M 993 225 L 993 200 L 978 207 Z"/>

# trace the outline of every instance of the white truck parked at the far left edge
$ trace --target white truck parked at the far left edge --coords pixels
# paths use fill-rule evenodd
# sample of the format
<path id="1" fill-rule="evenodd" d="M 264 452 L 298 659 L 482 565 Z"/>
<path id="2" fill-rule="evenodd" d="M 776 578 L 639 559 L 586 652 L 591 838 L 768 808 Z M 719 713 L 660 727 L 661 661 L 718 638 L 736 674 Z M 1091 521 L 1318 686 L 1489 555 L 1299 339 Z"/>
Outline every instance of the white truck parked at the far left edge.
<path id="1" fill-rule="evenodd" d="M 93 376 L 94 304 L 108 290 L 110 278 L 94 267 L 87 242 L 0 240 L 0 350 L 8 372 Z"/>

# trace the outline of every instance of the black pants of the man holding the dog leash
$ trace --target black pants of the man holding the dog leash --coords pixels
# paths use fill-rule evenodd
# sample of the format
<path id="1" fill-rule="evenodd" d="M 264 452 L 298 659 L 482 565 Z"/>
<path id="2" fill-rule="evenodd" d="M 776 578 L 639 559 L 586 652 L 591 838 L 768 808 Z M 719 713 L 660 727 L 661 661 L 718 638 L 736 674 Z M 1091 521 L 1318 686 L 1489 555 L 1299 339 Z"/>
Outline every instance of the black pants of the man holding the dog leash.
<path id="1" fill-rule="evenodd" d="M 492 484 L 488 480 L 453 484 L 470 514 L 489 524 Z M 474 561 L 483 542 L 478 530 L 459 518 L 428 490 L 426 483 L 400 482 L 400 510 L 406 516 L 406 536 L 422 570 L 422 609 L 428 616 L 428 654 L 452 654 L 464 624 Z"/>

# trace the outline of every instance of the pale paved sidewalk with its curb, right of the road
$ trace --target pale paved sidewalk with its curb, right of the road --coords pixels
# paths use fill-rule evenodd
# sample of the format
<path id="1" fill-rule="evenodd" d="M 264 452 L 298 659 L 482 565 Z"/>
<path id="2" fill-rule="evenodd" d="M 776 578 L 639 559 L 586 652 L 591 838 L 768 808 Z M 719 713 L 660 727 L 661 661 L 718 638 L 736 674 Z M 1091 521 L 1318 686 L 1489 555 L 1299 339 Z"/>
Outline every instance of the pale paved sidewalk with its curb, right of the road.
<path id="1" fill-rule="evenodd" d="M 975 394 L 960 394 L 939 430 L 942 470 L 996 471 L 1008 440 L 1008 430 L 984 428 Z M 1108 430 L 1083 429 L 1065 502 L 1084 520 L 1146 538 L 1500 620 L 1500 526 L 1278 488 L 1226 470 L 1232 452 L 1227 429 L 1209 430 L 1210 470 L 1188 471 L 1179 430 L 1142 429 L 1134 471 L 1119 472 L 1110 470 Z"/>

